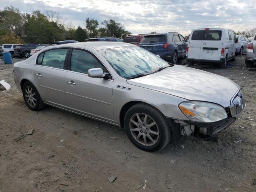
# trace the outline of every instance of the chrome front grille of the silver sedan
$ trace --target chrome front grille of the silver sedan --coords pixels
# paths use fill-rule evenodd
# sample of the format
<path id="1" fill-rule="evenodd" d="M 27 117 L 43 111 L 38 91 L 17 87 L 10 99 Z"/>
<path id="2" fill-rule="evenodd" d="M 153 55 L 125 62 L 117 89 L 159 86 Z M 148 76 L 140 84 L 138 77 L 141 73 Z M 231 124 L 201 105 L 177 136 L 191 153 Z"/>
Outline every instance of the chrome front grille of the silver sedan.
<path id="1" fill-rule="evenodd" d="M 239 116 L 245 108 L 245 99 L 240 90 L 238 94 L 236 94 L 231 102 L 230 113 L 232 117 Z"/>

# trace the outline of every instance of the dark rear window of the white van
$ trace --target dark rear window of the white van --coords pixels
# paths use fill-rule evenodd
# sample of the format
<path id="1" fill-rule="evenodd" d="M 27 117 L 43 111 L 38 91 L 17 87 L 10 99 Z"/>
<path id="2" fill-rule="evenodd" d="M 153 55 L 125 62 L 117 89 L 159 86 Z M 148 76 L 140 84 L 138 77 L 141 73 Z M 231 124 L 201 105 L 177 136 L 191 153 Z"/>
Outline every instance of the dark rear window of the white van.
<path id="1" fill-rule="evenodd" d="M 220 41 L 222 31 L 220 30 L 196 30 L 191 40 Z"/>

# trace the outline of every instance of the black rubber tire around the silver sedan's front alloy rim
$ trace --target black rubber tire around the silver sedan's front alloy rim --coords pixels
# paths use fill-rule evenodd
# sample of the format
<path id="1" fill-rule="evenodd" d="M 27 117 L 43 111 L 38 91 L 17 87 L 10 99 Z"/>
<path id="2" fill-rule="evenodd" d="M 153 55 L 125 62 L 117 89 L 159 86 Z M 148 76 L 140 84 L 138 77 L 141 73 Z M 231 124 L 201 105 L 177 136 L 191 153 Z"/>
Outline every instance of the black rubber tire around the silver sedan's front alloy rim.
<path id="1" fill-rule="evenodd" d="M 130 131 L 130 120 L 134 115 L 138 113 L 147 114 L 148 117 L 152 118 L 156 123 L 156 127 L 158 129 L 158 140 L 151 146 L 147 146 L 138 142 L 136 138 L 134 138 L 132 132 Z M 166 117 L 158 109 L 145 103 L 138 103 L 132 106 L 126 112 L 124 116 L 124 129 L 126 131 L 128 138 L 136 147 L 148 152 L 154 152 L 154 151 L 159 151 L 163 149 L 170 142 L 170 138 L 171 138 L 171 131 L 170 131 L 169 124 L 166 120 Z M 140 132 L 141 131 L 142 130 L 140 130 Z M 143 134 L 144 134 L 144 131 L 142 131 Z M 140 132 L 138 131 L 138 134 L 140 134 Z M 148 132 L 148 134 L 150 134 L 150 132 Z M 150 142 L 149 139 L 148 139 L 148 142 Z"/>

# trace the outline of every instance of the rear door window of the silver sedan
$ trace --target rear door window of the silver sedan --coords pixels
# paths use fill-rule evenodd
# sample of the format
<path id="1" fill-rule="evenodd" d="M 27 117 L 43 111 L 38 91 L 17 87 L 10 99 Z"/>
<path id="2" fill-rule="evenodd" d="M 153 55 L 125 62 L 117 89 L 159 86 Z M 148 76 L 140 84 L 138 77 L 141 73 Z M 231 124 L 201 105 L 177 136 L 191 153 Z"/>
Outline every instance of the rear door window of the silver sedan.
<path id="1" fill-rule="evenodd" d="M 68 52 L 68 49 L 53 49 L 53 50 L 46 51 L 44 53 L 42 65 L 63 69 L 67 52 Z"/>

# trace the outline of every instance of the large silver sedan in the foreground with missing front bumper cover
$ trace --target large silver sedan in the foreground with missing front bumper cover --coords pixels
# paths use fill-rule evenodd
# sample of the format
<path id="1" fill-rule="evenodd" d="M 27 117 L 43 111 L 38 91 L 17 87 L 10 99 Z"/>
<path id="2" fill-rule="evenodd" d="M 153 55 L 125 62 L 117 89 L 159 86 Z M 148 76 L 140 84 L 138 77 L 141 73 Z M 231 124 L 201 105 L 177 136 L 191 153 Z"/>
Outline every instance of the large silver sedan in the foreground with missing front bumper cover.
<path id="1" fill-rule="evenodd" d="M 49 46 L 15 63 L 13 71 L 31 110 L 48 104 L 124 127 L 146 151 L 161 150 L 181 135 L 216 138 L 245 108 L 232 80 L 170 64 L 128 43 Z"/>

